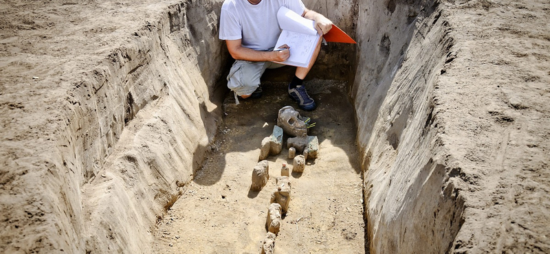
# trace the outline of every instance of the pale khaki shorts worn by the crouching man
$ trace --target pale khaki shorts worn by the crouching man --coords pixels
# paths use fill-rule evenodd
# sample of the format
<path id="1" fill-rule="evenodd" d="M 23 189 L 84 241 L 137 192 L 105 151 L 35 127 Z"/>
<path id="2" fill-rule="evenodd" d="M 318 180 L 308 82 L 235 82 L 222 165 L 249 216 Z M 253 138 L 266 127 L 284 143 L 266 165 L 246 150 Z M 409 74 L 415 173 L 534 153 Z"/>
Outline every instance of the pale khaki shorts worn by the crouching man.
<path id="1" fill-rule="evenodd" d="M 250 95 L 260 85 L 265 69 L 275 69 L 284 65 L 276 62 L 250 62 L 235 60 L 228 75 L 228 88 L 236 95 Z"/>

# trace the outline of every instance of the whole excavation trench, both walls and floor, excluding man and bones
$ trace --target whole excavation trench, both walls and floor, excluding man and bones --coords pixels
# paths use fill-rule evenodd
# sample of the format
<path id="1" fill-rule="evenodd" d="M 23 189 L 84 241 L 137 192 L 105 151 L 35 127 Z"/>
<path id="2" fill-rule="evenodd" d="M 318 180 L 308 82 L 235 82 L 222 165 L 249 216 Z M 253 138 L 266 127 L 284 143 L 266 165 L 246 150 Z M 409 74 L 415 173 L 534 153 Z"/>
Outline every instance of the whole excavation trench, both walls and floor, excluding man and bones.
<path id="1" fill-rule="evenodd" d="M 320 151 L 291 176 L 277 252 L 450 250 L 463 200 L 434 111 L 441 68 L 453 57 L 438 1 L 304 2 L 358 44 L 323 47 L 307 79 L 319 108 L 303 115 L 317 122 L 310 135 Z M 268 73 L 260 100 L 225 100 L 231 60 L 217 40 L 220 8 L 221 1 L 170 3 L 150 14 L 153 21 L 129 27 L 135 32 L 82 81 L 62 83 L 63 124 L 41 145 L 56 147 L 45 155 L 53 162 L 36 173 L 51 184 L 29 182 L 23 196 L 55 208 L 18 228 L 25 240 L 8 251 L 259 251 L 274 178 L 281 163 L 291 164 L 287 150 L 268 158 L 272 178 L 261 192 L 248 188 L 278 109 L 294 105 L 285 94 L 292 69 Z M 63 198 L 51 198 L 58 193 Z M 43 226 L 51 232 L 32 236 Z"/>

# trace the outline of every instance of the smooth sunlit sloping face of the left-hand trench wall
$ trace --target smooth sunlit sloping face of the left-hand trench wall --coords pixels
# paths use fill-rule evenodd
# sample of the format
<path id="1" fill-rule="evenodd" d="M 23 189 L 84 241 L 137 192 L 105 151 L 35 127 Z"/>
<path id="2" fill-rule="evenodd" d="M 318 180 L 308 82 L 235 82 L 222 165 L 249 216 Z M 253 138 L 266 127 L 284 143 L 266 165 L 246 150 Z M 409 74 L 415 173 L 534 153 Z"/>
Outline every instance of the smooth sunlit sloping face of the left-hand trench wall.
<path id="1" fill-rule="evenodd" d="M 221 113 L 211 102 L 224 65 L 221 42 L 215 40 L 219 9 L 219 2 L 181 3 L 147 35 L 152 43 L 142 49 L 151 51 L 151 60 L 128 74 L 137 77 L 134 89 L 147 84 L 144 89 L 158 92 L 126 94 L 126 102 L 132 96 L 135 103 L 126 106 L 126 115 L 135 116 L 84 187 L 85 222 L 93 229 L 87 232 L 87 251 L 149 253 L 155 220 L 199 167 Z"/>

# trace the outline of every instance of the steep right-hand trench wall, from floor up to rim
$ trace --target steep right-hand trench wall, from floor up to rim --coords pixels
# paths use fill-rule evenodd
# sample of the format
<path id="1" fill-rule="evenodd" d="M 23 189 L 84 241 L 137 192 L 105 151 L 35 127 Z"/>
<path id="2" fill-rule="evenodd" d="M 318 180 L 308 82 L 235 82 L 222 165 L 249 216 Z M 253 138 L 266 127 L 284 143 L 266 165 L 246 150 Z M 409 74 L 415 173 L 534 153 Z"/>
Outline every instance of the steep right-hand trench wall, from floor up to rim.
<path id="1" fill-rule="evenodd" d="M 370 252 L 445 253 L 464 210 L 434 111 L 453 45 L 448 23 L 439 1 L 368 1 L 359 10 L 352 96 Z"/>

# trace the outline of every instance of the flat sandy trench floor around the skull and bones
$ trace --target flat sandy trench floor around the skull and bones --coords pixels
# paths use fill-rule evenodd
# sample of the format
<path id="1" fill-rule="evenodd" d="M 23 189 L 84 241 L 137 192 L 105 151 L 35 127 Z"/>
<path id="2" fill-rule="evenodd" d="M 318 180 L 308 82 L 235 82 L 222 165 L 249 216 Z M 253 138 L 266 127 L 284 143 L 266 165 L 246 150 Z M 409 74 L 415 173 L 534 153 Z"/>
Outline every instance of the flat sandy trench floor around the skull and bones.
<path id="1" fill-rule="evenodd" d="M 353 106 L 345 83 L 305 83 L 318 102 L 309 135 L 319 139 L 318 158 L 303 174 L 291 174 L 292 195 L 275 242 L 276 253 L 364 253 L 362 179 L 355 146 Z M 159 221 L 153 253 L 261 253 L 265 220 L 275 178 L 287 159 L 283 151 L 267 159 L 270 181 L 250 191 L 260 144 L 276 125 L 278 109 L 296 104 L 285 82 L 265 82 L 263 97 L 241 100 L 232 94 L 223 103 L 223 123 L 208 157 L 184 193 Z"/>

